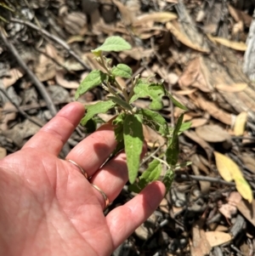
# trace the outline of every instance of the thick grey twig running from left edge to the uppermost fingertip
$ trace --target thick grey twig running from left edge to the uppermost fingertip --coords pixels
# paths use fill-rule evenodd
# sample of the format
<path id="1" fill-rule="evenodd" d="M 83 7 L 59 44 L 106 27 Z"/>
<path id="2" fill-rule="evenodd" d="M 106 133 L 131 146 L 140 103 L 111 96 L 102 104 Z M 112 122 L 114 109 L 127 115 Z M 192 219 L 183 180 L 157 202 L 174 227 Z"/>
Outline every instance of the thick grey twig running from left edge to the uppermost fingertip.
<path id="1" fill-rule="evenodd" d="M 3 38 L 3 43 L 6 45 L 6 47 L 10 50 L 10 52 L 14 55 L 15 59 L 20 64 L 21 68 L 26 71 L 26 74 L 30 77 L 31 81 L 34 83 L 34 85 L 37 87 L 40 94 L 42 94 L 42 98 L 45 100 L 45 102 L 48 105 L 48 110 L 50 111 L 51 115 L 54 117 L 57 114 L 56 107 L 51 100 L 46 88 L 43 86 L 42 82 L 38 80 L 38 78 L 35 76 L 35 74 L 29 69 L 29 67 L 26 65 L 26 63 L 21 59 L 20 54 L 18 53 L 17 49 L 14 47 L 12 43 L 10 43 L 4 35 L 3 29 L 0 29 L 0 35 Z"/>

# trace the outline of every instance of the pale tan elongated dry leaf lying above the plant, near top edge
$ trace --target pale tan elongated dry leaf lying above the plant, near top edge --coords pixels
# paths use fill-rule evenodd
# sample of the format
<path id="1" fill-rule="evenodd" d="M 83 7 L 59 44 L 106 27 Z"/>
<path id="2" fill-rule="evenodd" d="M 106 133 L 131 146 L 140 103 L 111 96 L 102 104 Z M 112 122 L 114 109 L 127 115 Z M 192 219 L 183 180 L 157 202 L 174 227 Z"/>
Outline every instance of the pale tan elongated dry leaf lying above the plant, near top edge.
<path id="1" fill-rule="evenodd" d="M 166 23 L 170 20 L 177 19 L 177 14 L 171 12 L 158 12 L 158 13 L 150 13 L 140 15 L 137 20 L 133 22 L 133 26 L 141 26 L 146 24 L 147 22 L 161 22 Z"/>

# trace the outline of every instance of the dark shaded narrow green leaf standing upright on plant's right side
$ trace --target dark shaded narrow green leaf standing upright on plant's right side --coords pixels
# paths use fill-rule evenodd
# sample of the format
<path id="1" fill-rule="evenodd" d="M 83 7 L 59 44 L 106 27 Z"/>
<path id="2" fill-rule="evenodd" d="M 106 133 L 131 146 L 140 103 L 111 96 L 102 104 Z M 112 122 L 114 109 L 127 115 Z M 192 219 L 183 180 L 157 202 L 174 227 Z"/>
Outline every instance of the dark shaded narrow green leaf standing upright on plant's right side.
<path id="1" fill-rule="evenodd" d="M 182 122 L 184 119 L 184 113 L 182 113 L 177 120 L 176 126 L 173 129 L 173 136 L 170 140 L 170 144 L 167 147 L 166 156 L 167 163 L 171 166 L 174 166 L 178 162 L 178 131 L 181 128 Z"/>

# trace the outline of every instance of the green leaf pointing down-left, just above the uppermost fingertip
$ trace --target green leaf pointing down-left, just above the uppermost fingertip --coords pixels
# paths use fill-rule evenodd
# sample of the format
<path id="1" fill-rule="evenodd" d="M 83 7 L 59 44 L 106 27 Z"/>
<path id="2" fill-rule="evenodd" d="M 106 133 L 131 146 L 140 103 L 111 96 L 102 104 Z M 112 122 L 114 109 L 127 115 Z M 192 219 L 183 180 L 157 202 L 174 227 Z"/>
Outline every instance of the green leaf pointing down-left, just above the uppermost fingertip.
<path id="1" fill-rule="evenodd" d="M 102 71 L 91 71 L 77 88 L 75 99 L 77 100 L 82 94 L 86 94 L 88 90 L 97 87 L 104 82 L 107 75 Z"/>

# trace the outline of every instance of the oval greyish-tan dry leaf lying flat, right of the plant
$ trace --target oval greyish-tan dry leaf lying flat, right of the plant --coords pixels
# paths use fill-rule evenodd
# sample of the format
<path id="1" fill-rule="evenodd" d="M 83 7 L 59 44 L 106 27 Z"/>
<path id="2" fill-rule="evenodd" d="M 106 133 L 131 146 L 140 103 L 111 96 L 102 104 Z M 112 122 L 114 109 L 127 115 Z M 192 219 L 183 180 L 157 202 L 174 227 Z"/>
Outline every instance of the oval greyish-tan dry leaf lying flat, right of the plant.
<path id="1" fill-rule="evenodd" d="M 231 139 L 229 133 L 217 124 L 207 124 L 198 127 L 195 129 L 195 134 L 207 142 L 223 142 Z"/>

